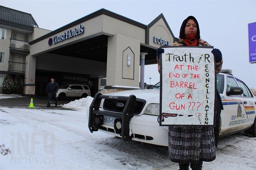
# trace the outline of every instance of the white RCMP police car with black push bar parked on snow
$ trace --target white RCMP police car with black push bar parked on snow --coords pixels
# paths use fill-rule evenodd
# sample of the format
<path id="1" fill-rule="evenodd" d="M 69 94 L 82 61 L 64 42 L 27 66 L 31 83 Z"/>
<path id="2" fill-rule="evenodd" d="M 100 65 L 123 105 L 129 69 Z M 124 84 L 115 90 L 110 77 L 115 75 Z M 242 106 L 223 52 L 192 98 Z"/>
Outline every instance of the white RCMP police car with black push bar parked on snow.
<path id="1" fill-rule="evenodd" d="M 217 74 L 223 108 L 219 136 L 244 131 L 256 137 L 256 97 L 231 70 Z M 168 146 L 168 127 L 159 126 L 160 83 L 150 89 L 97 93 L 87 112 L 89 130 L 101 131 L 124 141 Z M 217 134 L 217 136 L 218 136 Z"/>

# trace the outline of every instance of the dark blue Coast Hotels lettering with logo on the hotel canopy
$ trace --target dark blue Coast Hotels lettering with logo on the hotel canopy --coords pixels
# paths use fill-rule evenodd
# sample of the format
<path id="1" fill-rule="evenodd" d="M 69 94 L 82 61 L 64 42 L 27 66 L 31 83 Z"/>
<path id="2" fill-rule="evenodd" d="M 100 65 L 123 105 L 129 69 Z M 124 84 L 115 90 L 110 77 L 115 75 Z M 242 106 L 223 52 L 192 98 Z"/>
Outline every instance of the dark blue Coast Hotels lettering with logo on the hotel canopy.
<path id="1" fill-rule="evenodd" d="M 60 36 L 54 36 L 53 38 L 49 38 L 48 45 L 51 46 L 53 44 L 59 43 L 69 38 L 73 38 L 74 36 L 83 34 L 83 33 L 84 33 L 84 26 L 79 25 L 79 27 L 74 28 L 74 30 L 68 30 L 67 32 L 64 32 L 64 34 Z"/>

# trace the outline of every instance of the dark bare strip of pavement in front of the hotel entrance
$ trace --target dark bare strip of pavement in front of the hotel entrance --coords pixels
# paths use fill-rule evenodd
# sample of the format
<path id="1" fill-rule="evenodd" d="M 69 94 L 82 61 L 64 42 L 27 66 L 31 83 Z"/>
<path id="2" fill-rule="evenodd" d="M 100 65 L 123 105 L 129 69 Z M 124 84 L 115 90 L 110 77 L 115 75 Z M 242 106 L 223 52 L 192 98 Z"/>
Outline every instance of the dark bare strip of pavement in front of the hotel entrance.
<path id="1" fill-rule="evenodd" d="M 61 105 L 67 104 L 75 99 L 67 99 L 67 100 L 58 100 L 58 106 L 54 106 L 54 101 L 52 100 L 51 107 L 46 107 L 48 97 L 47 96 L 8 96 L 8 98 L 0 98 L 0 107 L 12 107 L 12 108 L 29 108 L 31 98 L 33 98 L 33 105 L 35 108 L 44 108 L 44 109 L 66 109 L 62 108 Z"/>

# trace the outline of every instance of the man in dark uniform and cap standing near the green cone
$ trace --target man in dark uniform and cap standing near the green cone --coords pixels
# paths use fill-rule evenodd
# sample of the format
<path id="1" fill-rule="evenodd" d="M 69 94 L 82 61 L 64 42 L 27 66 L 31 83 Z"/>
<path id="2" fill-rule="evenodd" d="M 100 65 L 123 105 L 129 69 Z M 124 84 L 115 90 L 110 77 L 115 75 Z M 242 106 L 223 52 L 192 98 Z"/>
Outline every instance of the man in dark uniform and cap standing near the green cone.
<path id="1" fill-rule="evenodd" d="M 57 107 L 56 93 L 59 90 L 59 85 L 54 81 L 54 77 L 51 78 L 51 82 L 48 83 L 46 92 L 48 94 L 48 103 L 46 107 L 50 107 L 52 98 L 54 100 L 55 107 Z"/>

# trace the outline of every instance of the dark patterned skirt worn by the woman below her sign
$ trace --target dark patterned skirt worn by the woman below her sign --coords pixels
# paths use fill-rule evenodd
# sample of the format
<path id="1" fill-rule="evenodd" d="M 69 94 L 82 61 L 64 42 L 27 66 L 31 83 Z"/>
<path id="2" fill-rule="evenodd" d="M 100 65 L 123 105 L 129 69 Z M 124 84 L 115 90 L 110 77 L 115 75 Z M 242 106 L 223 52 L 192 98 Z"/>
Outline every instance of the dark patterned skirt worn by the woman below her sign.
<path id="1" fill-rule="evenodd" d="M 168 139 L 172 162 L 198 164 L 216 158 L 213 127 L 169 126 Z"/>

